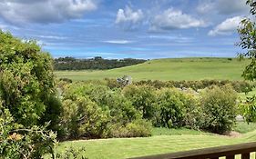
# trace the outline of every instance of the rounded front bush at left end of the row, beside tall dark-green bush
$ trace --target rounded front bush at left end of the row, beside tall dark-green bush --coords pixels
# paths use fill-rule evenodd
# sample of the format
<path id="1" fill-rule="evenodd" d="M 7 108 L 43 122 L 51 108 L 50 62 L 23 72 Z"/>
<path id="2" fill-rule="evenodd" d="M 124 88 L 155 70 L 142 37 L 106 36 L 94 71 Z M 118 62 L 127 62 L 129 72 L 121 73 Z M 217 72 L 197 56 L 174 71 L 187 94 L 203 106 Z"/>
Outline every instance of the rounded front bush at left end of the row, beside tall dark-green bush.
<path id="1" fill-rule="evenodd" d="M 64 135 L 69 138 L 101 138 L 105 137 L 108 114 L 98 105 L 84 96 L 63 101 L 64 111 L 61 124 Z"/>

